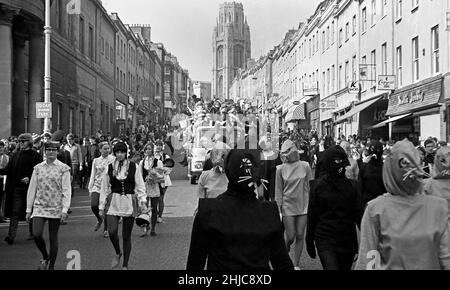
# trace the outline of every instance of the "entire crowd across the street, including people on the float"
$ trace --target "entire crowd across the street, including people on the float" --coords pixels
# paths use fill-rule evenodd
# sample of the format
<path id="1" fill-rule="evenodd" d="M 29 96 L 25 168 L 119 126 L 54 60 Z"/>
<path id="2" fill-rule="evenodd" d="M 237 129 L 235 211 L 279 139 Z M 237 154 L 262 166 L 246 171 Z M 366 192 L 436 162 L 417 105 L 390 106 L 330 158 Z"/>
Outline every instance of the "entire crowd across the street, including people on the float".
<path id="1" fill-rule="evenodd" d="M 300 270 L 304 245 L 326 270 L 450 269 L 446 142 L 275 133 L 248 103 L 193 101 L 195 109 L 172 132 L 147 126 L 119 138 L 56 131 L 1 140 L 5 242 L 13 245 L 19 221 L 28 221 L 29 239 L 42 254 L 39 269 L 54 269 L 74 189 L 87 189 L 93 231 L 114 249 L 111 267 L 128 269 L 134 225 L 147 237 L 163 222 L 173 141 L 192 145 L 196 128 L 210 126 L 218 130 L 205 146 L 188 270 Z M 236 139 L 227 140 L 223 128 Z"/>

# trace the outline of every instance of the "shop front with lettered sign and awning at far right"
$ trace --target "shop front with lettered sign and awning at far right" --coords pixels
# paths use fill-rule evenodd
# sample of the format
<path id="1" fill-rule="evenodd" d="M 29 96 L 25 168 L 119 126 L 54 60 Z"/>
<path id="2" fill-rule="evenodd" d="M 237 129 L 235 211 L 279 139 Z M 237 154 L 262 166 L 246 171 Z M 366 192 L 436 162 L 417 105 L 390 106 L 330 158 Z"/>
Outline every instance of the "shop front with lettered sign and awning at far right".
<path id="1" fill-rule="evenodd" d="M 443 78 L 437 76 L 396 90 L 389 97 L 387 120 L 373 126 L 388 126 L 389 139 L 423 142 L 428 137 L 445 136 Z"/>

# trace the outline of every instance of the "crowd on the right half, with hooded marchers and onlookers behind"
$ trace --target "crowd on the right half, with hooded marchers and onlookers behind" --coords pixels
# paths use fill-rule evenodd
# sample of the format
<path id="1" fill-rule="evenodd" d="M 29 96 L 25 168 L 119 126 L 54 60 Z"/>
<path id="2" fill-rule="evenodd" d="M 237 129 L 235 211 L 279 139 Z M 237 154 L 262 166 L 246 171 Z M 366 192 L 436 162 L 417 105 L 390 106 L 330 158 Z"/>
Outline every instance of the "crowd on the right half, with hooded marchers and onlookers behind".
<path id="1" fill-rule="evenodd" d="M 269 135 L 212 146 L 188 270 L 299 270 L 304 244 L 325 270 L 450 269 L 446 142 Z"/>

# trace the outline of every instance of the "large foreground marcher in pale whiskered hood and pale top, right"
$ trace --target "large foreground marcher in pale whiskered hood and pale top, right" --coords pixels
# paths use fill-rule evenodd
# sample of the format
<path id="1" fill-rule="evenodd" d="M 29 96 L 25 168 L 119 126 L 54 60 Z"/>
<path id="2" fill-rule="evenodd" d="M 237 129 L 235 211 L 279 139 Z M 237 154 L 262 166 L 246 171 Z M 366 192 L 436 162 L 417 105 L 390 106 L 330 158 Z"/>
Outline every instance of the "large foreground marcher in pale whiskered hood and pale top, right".
<path id="1" fill-rule="evenodd" d="M 450 269 L 447 204 L 421 194 L 424 175 L 414 145 L 397 142 L 383 166 L 388 193 L 364 212 L 357 269 Z"/>

